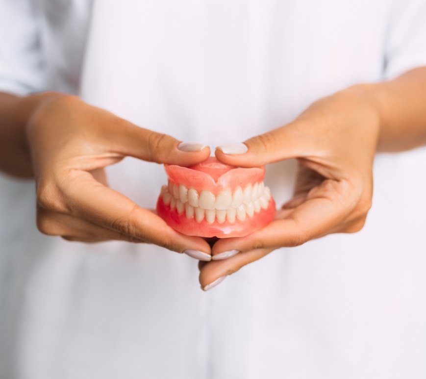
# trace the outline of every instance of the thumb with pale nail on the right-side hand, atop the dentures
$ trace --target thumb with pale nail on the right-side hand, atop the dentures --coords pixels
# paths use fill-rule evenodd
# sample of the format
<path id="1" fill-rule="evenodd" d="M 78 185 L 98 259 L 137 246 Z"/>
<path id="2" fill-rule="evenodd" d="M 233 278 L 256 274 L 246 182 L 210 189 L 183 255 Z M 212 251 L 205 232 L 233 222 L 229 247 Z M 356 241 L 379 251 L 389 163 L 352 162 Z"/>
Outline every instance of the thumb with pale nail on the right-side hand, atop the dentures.
<path id="1" fill-rule="evenodd" d="M 239 167 L 257 167 L 283 159 L 302 157 L 306 154 L 302 147 L 300 131 L 287 125 L 265 134 L 252 137 L 244 143 L 226 144 L 216 148 L 215 155 L 220 161 Z"/>

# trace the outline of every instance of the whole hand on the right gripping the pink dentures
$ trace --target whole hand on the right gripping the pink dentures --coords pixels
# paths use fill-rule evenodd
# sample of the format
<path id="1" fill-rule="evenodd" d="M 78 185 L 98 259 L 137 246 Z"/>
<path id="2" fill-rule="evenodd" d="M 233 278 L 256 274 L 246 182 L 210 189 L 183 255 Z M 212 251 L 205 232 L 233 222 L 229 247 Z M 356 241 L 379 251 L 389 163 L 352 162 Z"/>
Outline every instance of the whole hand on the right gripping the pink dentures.
<path id="1" fill-rule="evenodd" d="M 213 261 L 200 262 L 201 287 L 211 288 L 211 283 L 277 248 L 360 230 L 371 206 L 379 119 L 368 90 L 353 87 L 315 102 L 292 123 L 249 139 L 245 153 L 225 154 L 218 148 L 219 160 L 242 167 L 297 158 L 299 173 L 293 199 L 271 224 L 244 238 L 215 243 Z M 240 253 L 214 260 L 216 254 L 232 250 Z"/>

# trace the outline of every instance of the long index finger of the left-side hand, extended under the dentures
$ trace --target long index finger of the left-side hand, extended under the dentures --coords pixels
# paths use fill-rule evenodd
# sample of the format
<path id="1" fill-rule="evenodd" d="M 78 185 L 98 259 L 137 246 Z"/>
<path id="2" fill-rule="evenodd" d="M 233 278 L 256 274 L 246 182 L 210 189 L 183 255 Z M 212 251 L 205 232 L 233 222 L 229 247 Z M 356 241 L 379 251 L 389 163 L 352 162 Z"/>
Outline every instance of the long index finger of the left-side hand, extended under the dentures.
<path id="1" fill-rule="evenodd" d="M 61 191 L 69 211 L 78 218 L 175 252 L 191 249 L 210 254 L 210 246 L 202 238 L 178 233 L 156 214 L 105 187 L 86 171 L 72 171 L 61 182 Z"/>

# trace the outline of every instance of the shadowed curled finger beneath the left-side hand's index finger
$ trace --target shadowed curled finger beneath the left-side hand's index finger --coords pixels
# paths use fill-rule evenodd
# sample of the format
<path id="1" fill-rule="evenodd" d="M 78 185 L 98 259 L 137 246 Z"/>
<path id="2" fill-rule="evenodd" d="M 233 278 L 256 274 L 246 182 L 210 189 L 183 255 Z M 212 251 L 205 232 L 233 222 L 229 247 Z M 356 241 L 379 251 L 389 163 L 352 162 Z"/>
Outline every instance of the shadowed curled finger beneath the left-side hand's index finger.
<path id="1" fill-rule="evenodd" d="M 43 234 L 61 236 L 68 241 L 100 242 L 117 240 L 135 243 L 145 242 L 74 216 L 42 208 L 37 209 L 37 227 Z"/>

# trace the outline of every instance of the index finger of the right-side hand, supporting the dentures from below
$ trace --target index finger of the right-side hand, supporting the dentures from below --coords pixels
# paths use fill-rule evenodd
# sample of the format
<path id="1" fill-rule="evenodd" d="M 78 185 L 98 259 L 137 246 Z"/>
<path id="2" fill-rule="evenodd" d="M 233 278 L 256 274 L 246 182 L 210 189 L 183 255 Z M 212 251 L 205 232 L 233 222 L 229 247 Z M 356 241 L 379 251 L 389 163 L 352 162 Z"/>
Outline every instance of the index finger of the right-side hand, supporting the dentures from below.
<path id="1" fill-rule="evenodd" d="M 321 186 L 313 189 L 306 201 L 297 208 L 285 209 L 283 219 L 274 220 L 244 238 L 219 240 L 212 248 L 212 255 L 231 250 L 245 252 L 258 248 L 301 245 L 346 222 L 356 203 L 356 197 L 353 199 L 352 188 L 348 182 L 326 180 Z"/>

